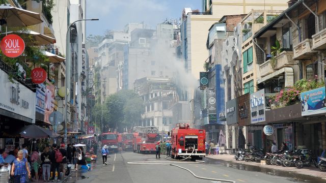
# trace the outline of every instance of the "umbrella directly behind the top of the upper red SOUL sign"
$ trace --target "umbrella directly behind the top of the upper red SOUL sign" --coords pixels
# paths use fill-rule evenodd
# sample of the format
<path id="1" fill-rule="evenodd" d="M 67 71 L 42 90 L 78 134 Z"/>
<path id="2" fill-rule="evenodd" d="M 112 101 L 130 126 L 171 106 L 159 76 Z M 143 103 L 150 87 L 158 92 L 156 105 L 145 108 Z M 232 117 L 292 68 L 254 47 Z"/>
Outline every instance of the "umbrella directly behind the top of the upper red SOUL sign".
<path id="1" fill-rule="evenodd" d="M 17 32 L 8 32 L 7 34 L 25 34 L 25 35 L 31 35 L 32 39 L 36 41 L 36 43 L 33 46 L 40 46 L 40 45 L 48 45 L 48 44 L 53 44 L 56 43 L 56 39 L 45 36 L 43 34 L 27 30 L 27 31 L 17 31 Z M 5 36 L 5 34 L 3 34 Z M 2 35 L 2 36 L 3 36 Z"/>

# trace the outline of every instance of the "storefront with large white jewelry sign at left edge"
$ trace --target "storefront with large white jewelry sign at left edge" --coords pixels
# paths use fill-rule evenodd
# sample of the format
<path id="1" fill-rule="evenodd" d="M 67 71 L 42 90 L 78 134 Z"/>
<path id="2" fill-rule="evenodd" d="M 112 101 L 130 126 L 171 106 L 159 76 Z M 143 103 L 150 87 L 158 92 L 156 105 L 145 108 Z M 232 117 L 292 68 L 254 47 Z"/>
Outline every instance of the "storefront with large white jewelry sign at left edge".
<path id="1" fill-rule="evenodd" d="M 17 138 L 17 130 L 35 124 L 36 94 L 18 81 L 11 82 L 1 69 L 0 83 L 0 147 L 12 150 L 15 144 L 23 143 Z"/>

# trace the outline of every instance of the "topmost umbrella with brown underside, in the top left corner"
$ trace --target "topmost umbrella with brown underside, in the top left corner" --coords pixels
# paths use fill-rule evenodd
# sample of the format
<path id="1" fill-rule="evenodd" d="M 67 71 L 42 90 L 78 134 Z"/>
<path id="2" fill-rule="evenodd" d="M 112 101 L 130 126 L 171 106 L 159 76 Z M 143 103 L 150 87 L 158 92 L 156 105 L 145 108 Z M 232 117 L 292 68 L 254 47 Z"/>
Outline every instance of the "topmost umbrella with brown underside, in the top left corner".
<path id="1" fill-rule="evenodd" d="M 39 13 L 13 7 L 9 4 L 0 5 L 0 24 L 13 26 L 30 26 L 42 23 Z"/>

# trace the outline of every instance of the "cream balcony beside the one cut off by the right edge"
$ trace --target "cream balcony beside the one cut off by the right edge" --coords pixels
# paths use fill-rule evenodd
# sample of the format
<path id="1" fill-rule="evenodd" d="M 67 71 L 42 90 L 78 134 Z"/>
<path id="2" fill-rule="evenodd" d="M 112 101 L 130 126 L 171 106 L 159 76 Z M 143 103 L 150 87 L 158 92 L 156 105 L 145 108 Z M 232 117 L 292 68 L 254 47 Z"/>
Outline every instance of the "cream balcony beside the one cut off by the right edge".
<path id="1" fill-rule="evenodd" d="M 304 60 L 310 59 L 313 55 L 316 54 L 315 51 L 311 50 L 312 47 L 312 39 L 306 39 L 301 43 L 294 46 L 293 50 L 293 59 L 296 60 Z"/>

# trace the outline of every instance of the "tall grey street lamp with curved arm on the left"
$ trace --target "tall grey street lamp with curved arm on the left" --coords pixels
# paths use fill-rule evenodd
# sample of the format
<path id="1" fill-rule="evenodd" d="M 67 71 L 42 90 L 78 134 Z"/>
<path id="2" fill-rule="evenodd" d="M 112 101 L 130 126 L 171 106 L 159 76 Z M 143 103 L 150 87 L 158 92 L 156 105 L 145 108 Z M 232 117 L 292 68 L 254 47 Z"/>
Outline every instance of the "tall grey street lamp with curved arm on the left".
<path id="1" fill-rule="evenodd" d="M 72 22 L 68 28 L 67 28 L 67 33 L 66 33 L 66 69 L 65 69 L 65 136 L 64 136 L 64 142 L 67 143 L 67 120 L 68 120 L 68 106 L 67 106 L 67 100 L 68 100 L 68 97 L 67 97 L 67 92 L 66 90 L 68 89 L 68 70 L 71 69 L 70 68 L 70 63 L 68 62 L 68 60 L 70 59 L 70 55 L 69 55 L 69 52 L 68 52 L 68 48 L 69 48 L 69 42 L 68 41 L 68 33 L 70 33 L 70 27 L 71 25 L 73 25 L 74 23 L 76 23 L 77 21 L 87 21 L 87 20 L 99 20 L 98 18 L 92 18 L 92 19 L 79 19 L 79 20 L 76 20 L 74 22 Z"/>

